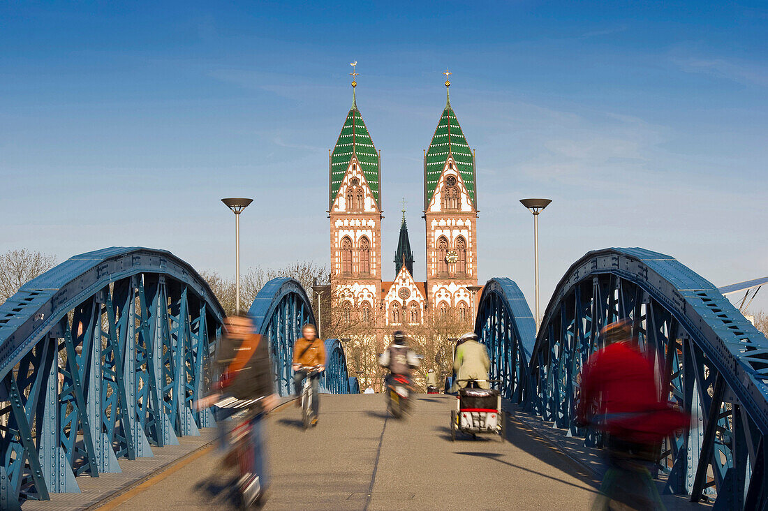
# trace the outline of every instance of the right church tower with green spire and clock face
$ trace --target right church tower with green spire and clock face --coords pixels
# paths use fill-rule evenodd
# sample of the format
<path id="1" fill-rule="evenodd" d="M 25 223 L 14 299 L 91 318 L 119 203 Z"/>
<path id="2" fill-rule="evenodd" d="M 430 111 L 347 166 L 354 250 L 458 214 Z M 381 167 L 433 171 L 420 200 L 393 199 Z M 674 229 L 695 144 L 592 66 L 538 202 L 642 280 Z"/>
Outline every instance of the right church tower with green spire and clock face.
<path id="1" fill-rule="evenodd" d="M 424 153 L 426 294 L 435 314 L 455 308 L 466 318 L 472 307 L 467 286 L 478 281 L 475 154 L 451 107 L 450 85 L 446 80 L 445 109 Z"/>

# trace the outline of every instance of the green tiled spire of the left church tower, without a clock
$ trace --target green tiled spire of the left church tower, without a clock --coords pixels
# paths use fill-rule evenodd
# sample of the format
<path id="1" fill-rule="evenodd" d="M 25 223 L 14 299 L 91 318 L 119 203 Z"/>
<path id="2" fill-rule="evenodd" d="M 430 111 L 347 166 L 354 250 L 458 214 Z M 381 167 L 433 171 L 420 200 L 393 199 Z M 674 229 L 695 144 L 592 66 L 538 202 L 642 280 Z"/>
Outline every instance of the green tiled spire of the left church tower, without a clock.
<path id="1" fill-rule="evenodd" d="M 333 153 L 331 153 L 329 207 L 333 206 L 333 200 L 336 199 L 336 194 L 339 193 L 339 187 L 341 187 L 344 174 L 346 174 L 346 169 L 349 167 L 349 162 L 352 161 L 353 156 L 356 156 L 357 161 L 360 162 L 362 174 L 365 175 L 368 186 L 373 194 L 373 199 L 380 210 L 379 154 L 373 145 L 371 135 L 368 133 L 368 128 L 366 128 L 366 123 L 362 120 L 362 115 L 360 115 L 360 111 L 357 109 L 354 89 L 352 93 L 352 108 L 349 109 L 349 114 L 346 115 L 346 121 L 344 121 L 344 125 L 341 128 L 339 139 L 336 141 L 336 147 L 333 148 Z"/>

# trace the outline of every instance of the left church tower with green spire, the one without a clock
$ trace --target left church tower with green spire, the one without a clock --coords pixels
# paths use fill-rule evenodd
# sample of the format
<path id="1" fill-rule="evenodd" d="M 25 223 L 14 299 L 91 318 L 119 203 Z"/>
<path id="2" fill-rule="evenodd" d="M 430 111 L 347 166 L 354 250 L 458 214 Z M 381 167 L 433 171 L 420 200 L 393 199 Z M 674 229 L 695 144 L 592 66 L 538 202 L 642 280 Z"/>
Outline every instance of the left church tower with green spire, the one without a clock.
<path id="1" fill-rule="evenodd" d="M 357 109 L 356 86 L 353 80 L 352 108 L 329 154 L 331 286 L 343 314 L 354 307 L 372 319 L 382 287 L 380 154 Z"/>

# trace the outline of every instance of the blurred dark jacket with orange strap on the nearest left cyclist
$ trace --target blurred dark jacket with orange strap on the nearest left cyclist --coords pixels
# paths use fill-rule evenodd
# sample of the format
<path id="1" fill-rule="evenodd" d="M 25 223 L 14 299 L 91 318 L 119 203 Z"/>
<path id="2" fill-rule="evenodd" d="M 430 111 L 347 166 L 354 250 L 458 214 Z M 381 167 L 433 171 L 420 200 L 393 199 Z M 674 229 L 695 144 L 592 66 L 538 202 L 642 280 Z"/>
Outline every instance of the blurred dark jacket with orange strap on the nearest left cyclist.
<path id="1" fill-rule="evenodd" d="M 237 360 L 238 355 L 240 360 Z M 233 370 L 240 366 L 240 370 Z M 227 335 L 221 337 L 217 367 L 224 394 L 240 400 L 253 400 L 274 393 L 269 340 L 260 335 L 253 333 L 244 339 Z"/>

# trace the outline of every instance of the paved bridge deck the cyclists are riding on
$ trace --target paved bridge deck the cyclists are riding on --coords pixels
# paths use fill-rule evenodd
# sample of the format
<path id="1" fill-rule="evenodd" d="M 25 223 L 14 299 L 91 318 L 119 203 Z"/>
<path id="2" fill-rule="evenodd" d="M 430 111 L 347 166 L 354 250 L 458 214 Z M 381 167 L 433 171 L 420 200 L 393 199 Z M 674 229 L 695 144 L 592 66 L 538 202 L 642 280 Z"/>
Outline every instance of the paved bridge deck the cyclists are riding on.
<path id="1" fill-rule="evenodd" d="M 265 509 L 588 509 L 597 481 L 528 431 L 452 443 L 452 397 L 419 397 L 409 420 L 387 418 L 381 395 L 323 395 L 316 429 L 289 405 L 269 420 L 273 485 Z M 508 423 L 511 425 L 513 423 Z M 233 507 L 202 456 L 104 509 Z"/>

